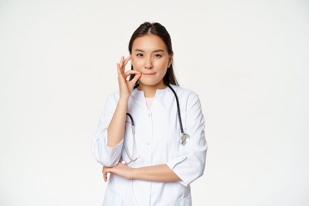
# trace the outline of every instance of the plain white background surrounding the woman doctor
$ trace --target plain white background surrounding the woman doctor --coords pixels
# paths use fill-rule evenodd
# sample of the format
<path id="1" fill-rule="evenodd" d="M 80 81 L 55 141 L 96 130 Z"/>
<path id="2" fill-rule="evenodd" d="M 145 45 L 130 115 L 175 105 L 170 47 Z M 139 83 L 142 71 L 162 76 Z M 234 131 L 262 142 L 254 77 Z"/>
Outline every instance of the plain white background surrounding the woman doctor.
<path id="1" fill-rule="evenodd" d="M 202 103 L 193 205 L 308 206 L 308 0 L 0 0 L 0 206 L 102 204 L 90 142 L 144 21 Z"/>

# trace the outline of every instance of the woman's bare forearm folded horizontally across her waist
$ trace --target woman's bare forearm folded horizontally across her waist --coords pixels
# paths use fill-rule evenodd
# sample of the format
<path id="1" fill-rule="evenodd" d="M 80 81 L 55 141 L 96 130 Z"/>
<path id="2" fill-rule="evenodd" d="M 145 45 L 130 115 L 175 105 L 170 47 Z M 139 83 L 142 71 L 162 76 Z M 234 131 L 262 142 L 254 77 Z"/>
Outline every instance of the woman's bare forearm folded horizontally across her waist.
<path id="1" fill-rule="evenodd" d="M 155 182 L 174 182 L 181 180 L 166 164 L 134 168 L 132 179 Z"/>

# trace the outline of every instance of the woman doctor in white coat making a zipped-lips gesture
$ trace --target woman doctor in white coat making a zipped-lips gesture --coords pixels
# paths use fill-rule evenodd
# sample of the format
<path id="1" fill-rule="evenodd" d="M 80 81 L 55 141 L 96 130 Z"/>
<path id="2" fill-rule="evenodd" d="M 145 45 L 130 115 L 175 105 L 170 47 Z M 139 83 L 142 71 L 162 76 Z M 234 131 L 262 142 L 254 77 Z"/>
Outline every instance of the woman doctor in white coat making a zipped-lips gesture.
<path id="1" fill-rule="evenodd" d="M 161 24 L 141 24 L 129 52 L 117 63 L 119 91 L 108 96 L 92 140 L 105 181 L 110 173 L 103 206 L 191 206 L 190 183 L 203 174 L 207 151 L 199 98 L 178 86 Z"/>

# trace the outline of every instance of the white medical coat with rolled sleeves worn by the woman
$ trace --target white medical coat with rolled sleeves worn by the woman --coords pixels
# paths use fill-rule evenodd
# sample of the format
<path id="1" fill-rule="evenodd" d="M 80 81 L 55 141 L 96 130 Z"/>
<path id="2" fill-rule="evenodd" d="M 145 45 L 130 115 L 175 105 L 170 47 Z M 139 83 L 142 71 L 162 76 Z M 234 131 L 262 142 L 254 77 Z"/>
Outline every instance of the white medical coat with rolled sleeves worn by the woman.
<path id="1" fill-rule="evenodd" d="M 189 89 L 171 84 L 180 106 L 184 132 L 189 142 L 180 144 L 180 125 L 176 99 L 170 88 L 157 89 L 151 110 L 147 108 L 143 91 L 134 89 L 127 112 L 132 115 L 135 132 L 135 159 L 130 167 L 168 165 L 182 180 L 152 182 L 125 179 L 111 174 L 103 206 L 191 206 L 190 183 L 203 174 L 207 143 L 205 121 L 198 96 Z M 111 167 L 119 161 L 129 162 L 124 145 L 132 154 L 131 119 L 127 116 L 123 140 L 115 147 L 107 146 L 107 127 L 111 122 L 119 92 L 110 94 L 100 116 L 98 129 L 92 139 L 92 154 L 97 162 Z"/>

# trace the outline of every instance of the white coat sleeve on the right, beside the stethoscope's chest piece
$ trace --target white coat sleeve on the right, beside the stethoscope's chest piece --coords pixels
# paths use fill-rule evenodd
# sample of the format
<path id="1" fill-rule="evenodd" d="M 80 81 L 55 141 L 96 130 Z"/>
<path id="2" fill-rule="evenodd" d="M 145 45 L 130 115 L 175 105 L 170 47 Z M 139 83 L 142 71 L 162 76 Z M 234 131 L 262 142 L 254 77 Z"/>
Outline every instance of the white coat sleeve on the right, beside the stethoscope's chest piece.
<path id="1" fill-rule="evenodd" d="M 180 183 L 187 186 L 203 175 L 207 152 L 205 139 L 205 120 L 197 94 L 190 93 L 186 105 L 185 132 L 190 135 L 189 142 L 180 144 L 177 157 L 167 165 L 182 179 Z"/>

